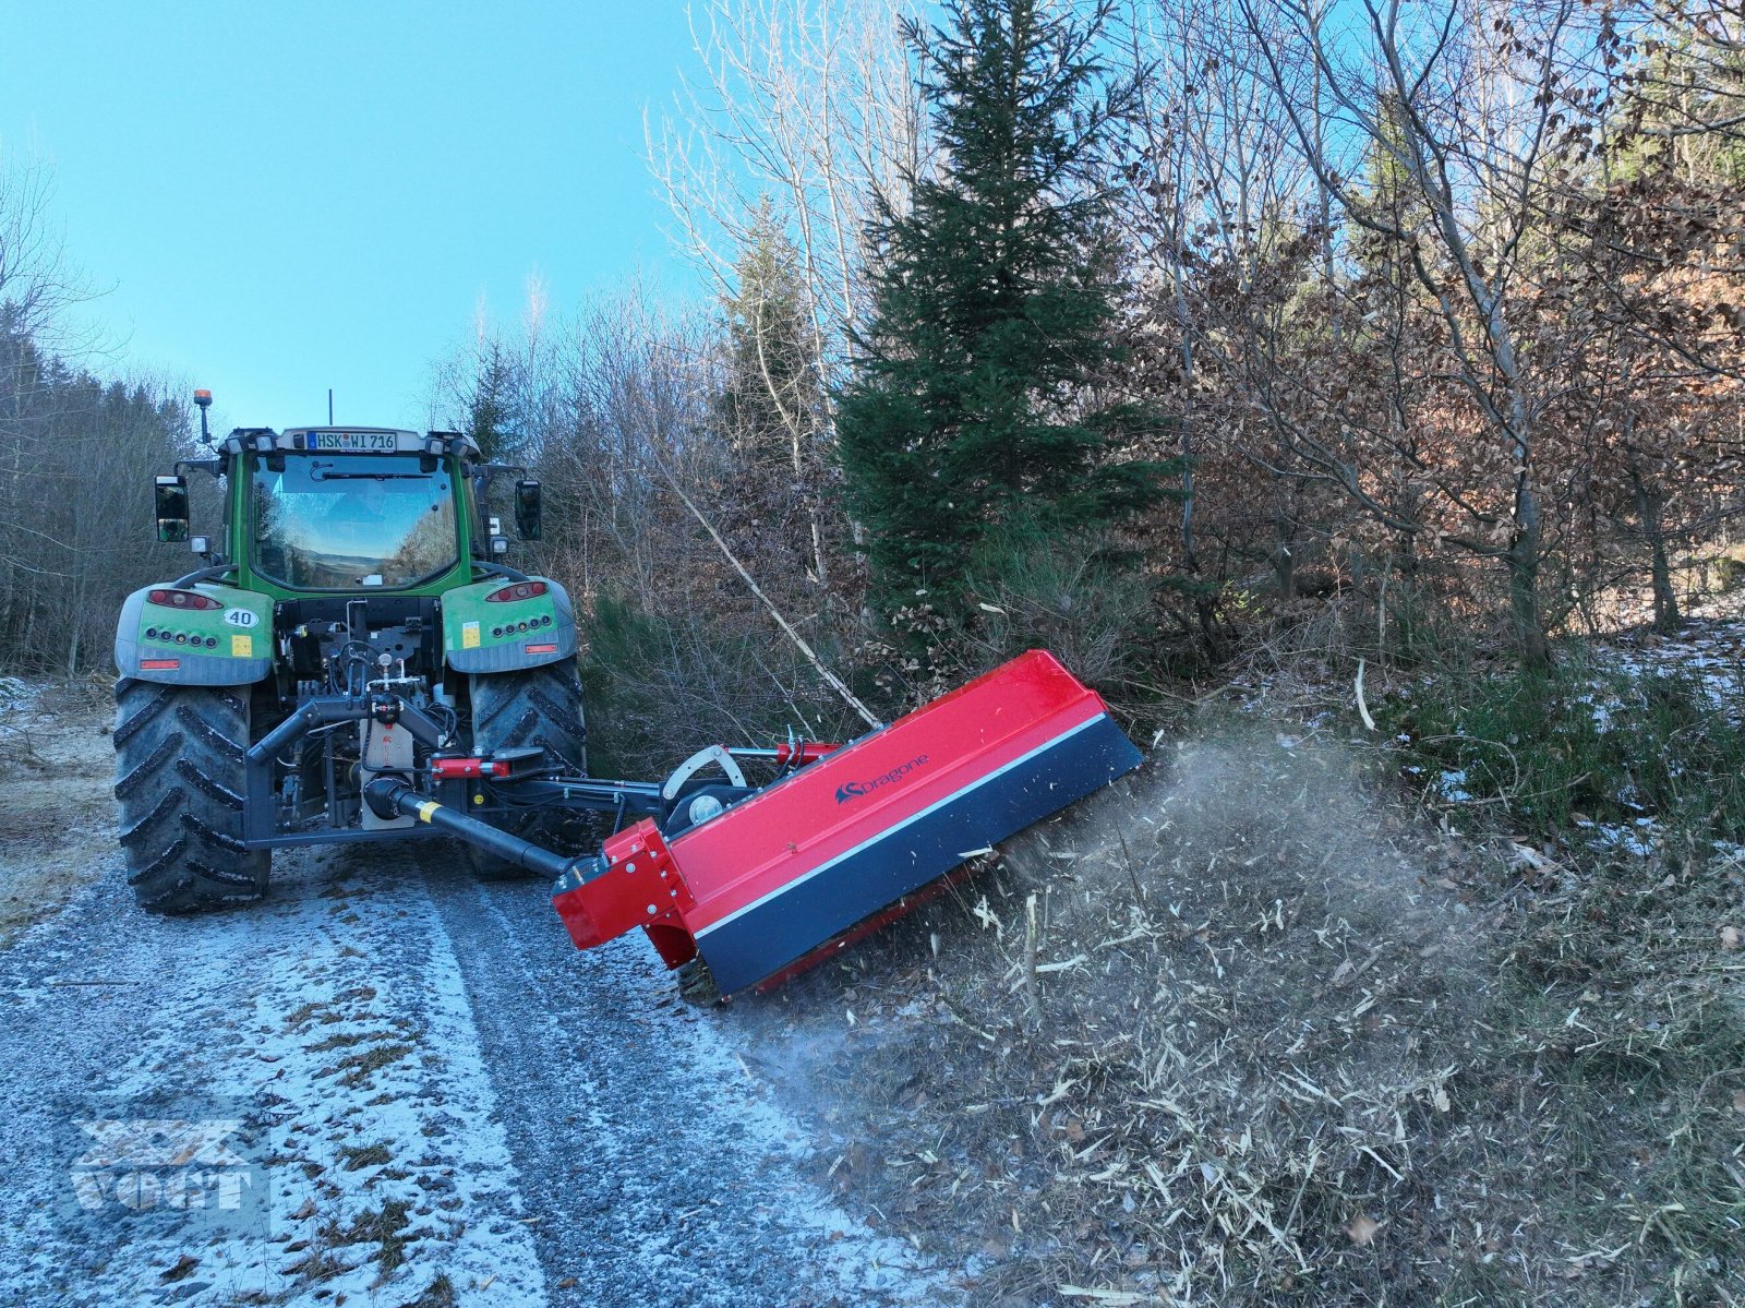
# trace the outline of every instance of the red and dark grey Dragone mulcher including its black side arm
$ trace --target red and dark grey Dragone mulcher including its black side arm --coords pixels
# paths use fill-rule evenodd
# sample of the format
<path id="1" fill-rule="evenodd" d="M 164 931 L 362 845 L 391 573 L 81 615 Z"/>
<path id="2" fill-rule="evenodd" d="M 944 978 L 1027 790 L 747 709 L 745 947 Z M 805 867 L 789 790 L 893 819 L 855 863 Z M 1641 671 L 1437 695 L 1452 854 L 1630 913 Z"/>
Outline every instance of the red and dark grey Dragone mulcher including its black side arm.
<path id="1" fill-rule="evenodd" d="M 738 763 L 754 758 L 785 775 L 747 786 Z M 733 784 L 700 781 L 710 765 Z M 579 948 L 642 927 L 668 967 L 701 959 L 733 994 L 907 912 L 967 859 L 1138 765 L 1103 700 L 1038 650 L 841 747 L 714 746 L 665 784 L 553 777 L 539 749 L 438 754 L 428 775 L 370 781 L 365 800 L 555 875 L 551 903 Z M 485 795 L 646 821 L 569 859 L 468 817 Z"/>

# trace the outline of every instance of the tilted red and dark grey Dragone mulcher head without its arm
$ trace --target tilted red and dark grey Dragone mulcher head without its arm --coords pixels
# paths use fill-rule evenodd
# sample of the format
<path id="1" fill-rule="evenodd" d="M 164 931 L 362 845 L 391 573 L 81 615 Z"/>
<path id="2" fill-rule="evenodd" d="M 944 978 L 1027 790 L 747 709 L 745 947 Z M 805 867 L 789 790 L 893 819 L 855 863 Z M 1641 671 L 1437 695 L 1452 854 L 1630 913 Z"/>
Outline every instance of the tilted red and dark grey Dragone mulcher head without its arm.
<path id="1" fill-rule="evenodd" d="M 578 947 L 644 926 L 731 994 L 1138 763 L 1103 700 L 1031 651 L 670 845 L 653 823 L 619 833 L 553 901 Z"/>

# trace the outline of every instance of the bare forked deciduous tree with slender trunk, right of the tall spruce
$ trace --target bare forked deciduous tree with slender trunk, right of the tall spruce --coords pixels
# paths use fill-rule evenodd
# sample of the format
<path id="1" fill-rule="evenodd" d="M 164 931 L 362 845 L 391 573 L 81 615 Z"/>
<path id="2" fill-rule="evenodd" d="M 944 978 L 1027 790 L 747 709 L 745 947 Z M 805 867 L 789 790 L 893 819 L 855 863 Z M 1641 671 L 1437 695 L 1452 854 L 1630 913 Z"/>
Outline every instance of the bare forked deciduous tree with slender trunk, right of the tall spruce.
<path id="1" fill-rule="evenodd" d="M 1466 520 L 1440 529 L 1440 540 L 1506 564 L 1515 639 L 1529 662 L 1548 657 L 1536 458 L 1555 382 L 1522 349 L 1523 260 L 1546 169 L 1558 159 L 1567 47 L 1584 35 L 1577 14 L 1574 0 L 1506 12 L 1487 0 L 1363 0 L 1356 9 L 1242 0 L 1262 56 L 1255 72 L 1286 107 L 1319 185 L 1347 224 L 1398 257 L 1440 323 L 1436 344 L 1473 405 L 1483 472 L 1461 485 L 1429 478 Z M 1377 203 L 1377 166 L 1396 183 L 1394 203 Z M 1290 437 L 1307 466 L 1352 487 L 1361 480 L 1324 435 L 1297 426 Z"/>

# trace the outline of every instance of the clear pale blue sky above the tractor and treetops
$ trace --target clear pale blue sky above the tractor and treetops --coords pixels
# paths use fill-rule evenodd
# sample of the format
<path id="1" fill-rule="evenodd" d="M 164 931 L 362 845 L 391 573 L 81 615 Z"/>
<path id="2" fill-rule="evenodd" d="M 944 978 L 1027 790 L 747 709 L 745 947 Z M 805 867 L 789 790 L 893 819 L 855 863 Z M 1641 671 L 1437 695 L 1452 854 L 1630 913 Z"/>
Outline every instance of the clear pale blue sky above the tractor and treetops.
<path id="1" fill-rule="evenodd" d="M 646 107 L 691 66 L 654 3 L 10 3 L 0 159 L 40 159 L 120 367 L 225 426 L 424 426 L 431 363 L 530 276 L 564 311 L 665 236 Z"/>

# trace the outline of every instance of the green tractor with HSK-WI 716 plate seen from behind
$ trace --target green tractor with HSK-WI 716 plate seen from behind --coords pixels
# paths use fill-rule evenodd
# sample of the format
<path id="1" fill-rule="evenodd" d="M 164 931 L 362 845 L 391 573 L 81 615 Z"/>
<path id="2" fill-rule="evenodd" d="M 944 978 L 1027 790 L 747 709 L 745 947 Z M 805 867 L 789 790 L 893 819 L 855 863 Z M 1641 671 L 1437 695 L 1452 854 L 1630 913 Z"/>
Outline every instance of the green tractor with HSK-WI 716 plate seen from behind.
<path id="1" fill-rule="evenodd" d="M 257 899 L 277 847 L 429 835 L 365 800 L 384 777 L 464 779 L 464 812 L 504 836 L 574 843 L 572 809 L 489 784 L 586 777 L 569 595 L 506 568 L 489 515 L 513 478 L 518 533 L 537 540 L 539 484 L 454 431 L 213 442 L 211 395 L 195 403 L 211 458 L 159 477 L 155 503 L 157 538 L 202 566 L 129 595 L 115 634 L 115 798 L 140 905 Z M 216 538 L 190 536 L 188 473 L 220 482 Z M 461 845 L 475 871 L 517 866 L 513 842 L 489 843 Z"/>

